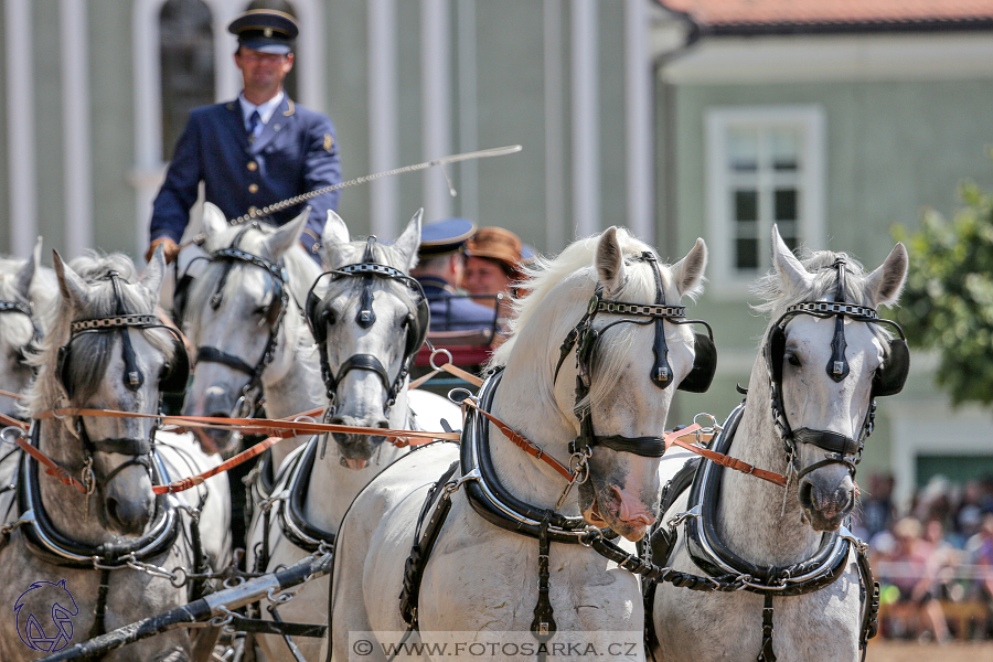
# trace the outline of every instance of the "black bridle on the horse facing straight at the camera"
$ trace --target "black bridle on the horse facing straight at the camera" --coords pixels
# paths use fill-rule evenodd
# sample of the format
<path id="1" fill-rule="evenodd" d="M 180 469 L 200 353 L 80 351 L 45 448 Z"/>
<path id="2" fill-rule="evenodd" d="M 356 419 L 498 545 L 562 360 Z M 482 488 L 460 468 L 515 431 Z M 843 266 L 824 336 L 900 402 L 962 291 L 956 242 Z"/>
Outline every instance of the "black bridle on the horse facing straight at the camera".
<path id="1" fill-rule="evenodd" d="M 430 325 L 431 313 L 428 308 L 427 299 L 424 296 L 424 290 L 420 288 L 420 284 L 399 269 L 376 263 L 375 244 L 376 237 L 369 237 L 361 263 L 348 265 L 340 269 L 324 271 L 317 280 L 314 280 L 313 285 L 310 287 L 310 291 L 307 292 L 307 323 L 310 325 L 313 339 L 320 348 L 321 376 L 328 388 L 329 415 L 334 408 L 338 384 L 353 370 L 369 371 L 380 377 L 380 381 L 383 382 L 383 387 L 386 389 L 384 410 L 388 414 L 391 407 L 393 407 L 396 402 L 399 389 L 403 387 L 404 380 L 410 372 L 410 365 L 414 362 L 414 357 L 417 355 L 417 350 L 424 344 L 424 339 L 427 335 L 428 327 Z M 373 311 L 372 285 L 374 278 L 398 280 L 410 288 L 416 295 L 417 309 L 407 314 L 407 335 L 404 344 L 404 357 L 396 377 L 391 380 L 382 362 L 372 354 L 352 354 L 341 365 L 337 374 L 331 370 L 331 365 L 328 363 L 327 351 L 328 324 L 333 324 L 335 320 L 333 318 L 333 312 L 328 309 L 325 302 L 313 291 L 318 282 L 320 282 L 321 278 L 324 276 L 330 276 L 332 280 L 338 278 L 363 279 L 362 292 L 359 298 L 359 312 L 355 316 L 355 323 L 362 329 L 369 329 L 376 322 L 376 313 Z"/>

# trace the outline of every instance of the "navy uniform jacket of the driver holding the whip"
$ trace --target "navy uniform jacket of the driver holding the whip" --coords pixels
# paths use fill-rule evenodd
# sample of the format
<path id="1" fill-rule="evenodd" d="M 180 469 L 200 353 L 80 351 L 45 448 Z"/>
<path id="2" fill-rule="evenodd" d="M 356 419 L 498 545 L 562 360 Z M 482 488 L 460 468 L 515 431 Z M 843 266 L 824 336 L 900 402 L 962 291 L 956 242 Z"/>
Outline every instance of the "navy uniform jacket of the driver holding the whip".
<path id="1" fill-rule="evenodd" d="M 248 142 L 237 99 L 194 108 L 175 146 L 166 182 L 152 210 L 150 239 L 179 243 L 203 181 L 206 200 L 228 218 L 341 182 L 338 141 L 331 120 L 285 96 L 261 135 Z M 273 214 L 281 225 L 307 205 L 310 217 L 300 241 L 311 252 L 320 243 L 338 191 Z"/>

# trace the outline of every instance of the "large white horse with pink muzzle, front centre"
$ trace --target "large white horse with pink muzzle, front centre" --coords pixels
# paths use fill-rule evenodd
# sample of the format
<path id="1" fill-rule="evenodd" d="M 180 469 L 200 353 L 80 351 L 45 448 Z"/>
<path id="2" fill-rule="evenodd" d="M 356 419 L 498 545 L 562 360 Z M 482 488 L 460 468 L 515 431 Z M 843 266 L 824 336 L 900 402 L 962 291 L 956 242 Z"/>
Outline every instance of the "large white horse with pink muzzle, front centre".
<path id="1" fill-rule="evenodd" d="M 672 323 L 686 321 L 679 302 L 697 295 L 705 265 L 702 239 L 665 266 L 651 247 L 611 227 L 532 270 L 532 292 L 492 361 L 503 370 L 480 393 L 480 407 L 531 441 L 512 442 L 470 412 L 461 457 L 456 445 L 428 446 L 362 491 L 342 522 L 334 559 L 334 659 L 350 659 L 356 636 L 371 642 L 367 659 L 385 660 L 381 647 L 407 626 L 408 642 L 419 636 L 455 647 L 452 637 L 470 637 L 462 645 L 484 644 L 482 660 L 506 654 L 485 644 L 508 631 L 516 637 L 503 640 L 508 645 L 535 650 L 545 642 L 547 659 L 573 659 L 558 642 L 576 637 L 580 650 L 591 644 L 612 660 L 644 659 L 639 580 L 598 553 L 621 553 L 599 528 L 638 541 L 654 522 L 659 435 L 675 385 L 700 391 L 713 376 L 713 365 L 697 363 L 703 352 L 694 351 L 688 328 Z M 696 373 L 703 376 L 687 378 Z M 457 461 L 452 482 L 435 493 L 445 493 L 441 505 L 427 503 L 431 484 L 451 476 Z M 579 477 L 578 489 L 567 490 L 563 466 Z M 439 530 L 445 503 L 450 511 Z M 434 543 L 415 533 L 421 524 L 439 532 Z M 415 572 L 405 573 L 408 556 Z M 431 659 L 446 653 L 436 649 Z"/>

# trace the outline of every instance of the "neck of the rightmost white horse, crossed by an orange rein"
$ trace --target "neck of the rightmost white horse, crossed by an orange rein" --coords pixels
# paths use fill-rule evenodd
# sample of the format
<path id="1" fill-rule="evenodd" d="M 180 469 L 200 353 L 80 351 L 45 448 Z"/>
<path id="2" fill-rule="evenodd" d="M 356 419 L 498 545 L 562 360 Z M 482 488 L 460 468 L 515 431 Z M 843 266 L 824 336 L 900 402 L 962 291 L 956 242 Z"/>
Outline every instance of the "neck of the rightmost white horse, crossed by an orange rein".
<path id="1" fill-rule="evenodd" d="M 770 397 L 768 372 L 759 355 L 728 453 L 754 467 L 787 476 L 787 457 L 772 421 Z M 758 565 L 790 565 L 809 558 L 821 540 L 803 520 L 796 480 L 789 481 L 783 495 L 779 485 L 725 469 L 717 519 L 728 548 Z"/>

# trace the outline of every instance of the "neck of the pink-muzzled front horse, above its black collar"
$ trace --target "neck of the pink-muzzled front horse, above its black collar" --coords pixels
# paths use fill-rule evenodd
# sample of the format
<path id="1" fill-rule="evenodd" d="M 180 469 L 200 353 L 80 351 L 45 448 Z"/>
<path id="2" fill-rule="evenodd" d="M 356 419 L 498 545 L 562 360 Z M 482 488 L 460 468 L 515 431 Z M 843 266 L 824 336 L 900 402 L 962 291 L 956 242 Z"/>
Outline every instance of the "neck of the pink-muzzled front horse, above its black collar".
<path id="1" fill-rule="evenodd" d="M 576 438 L 578 421 L 572 412 L 555 405 L 551 384 L 535 374 L 535 363 L 510 362 L 493 397 L 493 415 L 511 429 L 540 446 L 563 465 L 568 463 L 568 444 Z M 495 426 L 490 425 L 490 455 L 496 476 L 517 499 L 540 508 L 554 509 L 565 479 L 542 460 L 517 448 Z M 559 510 L 578 516 L 575 491 Z"/>

